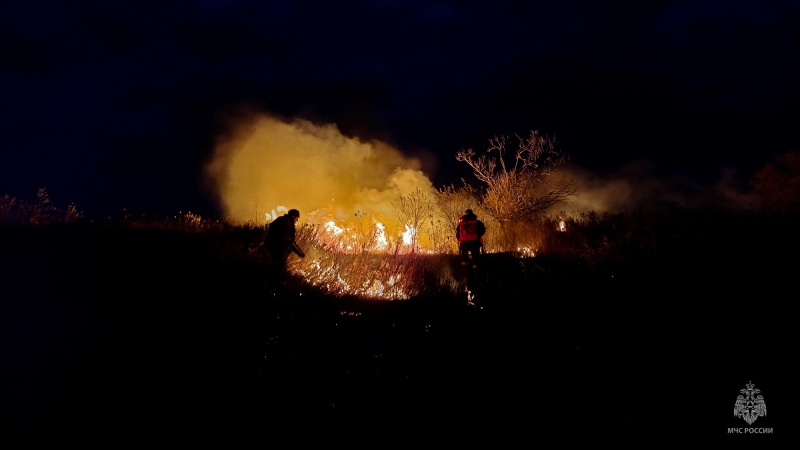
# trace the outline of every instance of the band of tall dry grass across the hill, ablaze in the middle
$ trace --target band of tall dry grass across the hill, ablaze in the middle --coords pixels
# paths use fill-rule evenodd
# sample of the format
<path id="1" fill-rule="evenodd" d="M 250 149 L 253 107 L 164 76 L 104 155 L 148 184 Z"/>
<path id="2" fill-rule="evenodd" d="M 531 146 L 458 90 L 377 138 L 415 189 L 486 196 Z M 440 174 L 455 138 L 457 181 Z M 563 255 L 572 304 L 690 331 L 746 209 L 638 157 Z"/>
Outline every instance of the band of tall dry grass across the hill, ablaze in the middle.
<path id="1" fill-rule="evenodd" d="M 298 289 L 377 301 L 457 297 L 464 292 L 455 239 L 446 234 L 446 227 L 440 238 L 422 234 L 413 239 L 410 233 L 414 230 L 387 231 L 381 222 L 366 214 L 358 214 L 349 225 L 328 215 L 319 220 L 310 220 L 310 214 L 307 217 L 298 228 L 298 242 L 307 256 L 292 256 L 289 260 Z M 503 269 L 495 272 L 495 279 L 503 280 L 504 288 L 517 280 L 527 286 L 532 276 L 540 279 L 539 275 L 550 270 L 548 261 L 558 261 L 573 272 L 589 271 L 593 280 L 647 278 L 658 271 L 676 270 L 681 276 L 703 274 L 719 270 L 719 263 L 713 267 L 704 263 L 712 259 L 733 265 L 726 269 L 733 273 L 741 274 L 745 269 L 767 273 L 767 267 L 782 273 L 790 266 L 766 265 L 763 253 L 793 254 L 797 248 L 797 223 L 797 215 L 726 210 L 589 212 L 572 217 L 562 213 L 517 223 L 513 228 L 489 221 L 486 267 L 503 264 Z M 76 213 L 72 205 L 66 210 L 56 208 L 43 190 L 35 202 L 2 197 L 0 226 L 9 231 L 31 228 L 45 235 L 61 235 L 62 230 L 74 229 L 79 233 L 98 231 L 105 236 L 107 229 L 114 228 L 133 236 L 142 229 L 158 230 L 169 232 L 165 235 L 169 239 L 191 237 L 191 245 L 198 248 L 186 247 L 187 251 L 202 254 L 207 257 L 205 261 L 221 263 L 220 267 L 238 262 L 270 264 L 260 251 L 263 224 L 237 225 L 192 213 L 166 219 L 126 213 L 118 220 L 96 221 Z M 426 227 L 424 231 L 430 233 L 429 229 L 433 228 Z M 76 252 L 91 254 L 85 249 Z M 739 264 L 740 260 L 748 260 L 748 255 L 751 261 L 761 261 L 759 265 Z M 253 267 L 262 271 L 261 267 Z M 267 273 L 267 268 L 261 273 Z"/>

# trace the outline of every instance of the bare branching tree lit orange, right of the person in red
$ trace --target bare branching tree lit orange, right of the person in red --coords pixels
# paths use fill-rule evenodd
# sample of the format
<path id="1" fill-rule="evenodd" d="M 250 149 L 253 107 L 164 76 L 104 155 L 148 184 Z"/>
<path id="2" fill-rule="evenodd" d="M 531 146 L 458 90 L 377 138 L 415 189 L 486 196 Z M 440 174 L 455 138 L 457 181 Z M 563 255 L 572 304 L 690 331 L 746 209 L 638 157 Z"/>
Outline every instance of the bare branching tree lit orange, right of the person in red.
<path id="1" fill-rule="evenodd" d="M 517 140 L 513 157 L 506 136 L 490 139 L 489 148 L 480 156 L 472 149 L 456 154 L 456 160 L 467 163 L 485 185 L 481 206 L 500 223 L 508 245 L 515 240 L 510 221 L 529 220 L 576 192 L 574 180 L 557 173 L 568 158 L 556 147 L 554 138 L 534 130 L 526 139 L 517 136 Z"/>

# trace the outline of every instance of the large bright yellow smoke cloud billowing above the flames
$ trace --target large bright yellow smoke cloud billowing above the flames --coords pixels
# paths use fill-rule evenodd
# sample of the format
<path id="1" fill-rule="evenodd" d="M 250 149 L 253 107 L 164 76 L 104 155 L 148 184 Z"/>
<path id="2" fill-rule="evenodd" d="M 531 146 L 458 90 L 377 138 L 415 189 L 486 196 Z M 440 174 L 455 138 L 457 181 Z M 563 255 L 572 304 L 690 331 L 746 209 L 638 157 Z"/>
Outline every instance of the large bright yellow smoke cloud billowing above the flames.
<path id="1" fill-rule="evenodd" d="M 206 169 L 232 223 L 265 223 L 296 208 L 301 221 L 319 223 L 366 214 L 397 235 L 405 227 L 391 202 L 416 189 L 435 196 L 421 162 L 385 143 L 344 136 L 334 124 L 266 114 L 233 123 Z"/>

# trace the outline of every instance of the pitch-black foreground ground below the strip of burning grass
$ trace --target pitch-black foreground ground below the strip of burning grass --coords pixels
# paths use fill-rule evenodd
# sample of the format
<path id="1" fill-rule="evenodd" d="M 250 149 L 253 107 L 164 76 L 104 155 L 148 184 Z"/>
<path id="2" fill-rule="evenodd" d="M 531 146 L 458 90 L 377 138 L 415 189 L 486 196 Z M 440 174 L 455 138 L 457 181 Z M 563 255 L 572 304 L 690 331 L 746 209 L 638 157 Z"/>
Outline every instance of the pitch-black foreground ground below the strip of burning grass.
<path id="1" fill-rule="evenodd" d="M 0 244 L 11 446 L 326 441 L 332 424 L 338 438 L 380 430 L 376 445 L 800 435 L 793 248 L 667 249 L 594 270 L 489 255 L 476 309 L 276 300 L 263 265 L 191 234 L 11 228 Z M 750 381 L 768 407 L 752 427 L 770 435 L 727 433 L 750 427 L 733 416 Z"/>

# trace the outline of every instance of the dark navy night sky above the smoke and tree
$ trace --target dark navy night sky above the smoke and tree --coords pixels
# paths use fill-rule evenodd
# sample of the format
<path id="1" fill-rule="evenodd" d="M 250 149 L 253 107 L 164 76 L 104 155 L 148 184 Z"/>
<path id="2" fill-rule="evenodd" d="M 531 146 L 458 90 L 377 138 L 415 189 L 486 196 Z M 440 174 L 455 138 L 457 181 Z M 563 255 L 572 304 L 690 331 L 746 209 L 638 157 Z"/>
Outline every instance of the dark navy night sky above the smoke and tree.
<path id="1" fill-rule="evenodd" d="M 213 214 L 201 167 L 245 107 L 436 155 L 437 184 L 534 129 L 700 181 L 800 148 L 796 0 L 13 3 L 0 194 L 90 215 Z"/>

